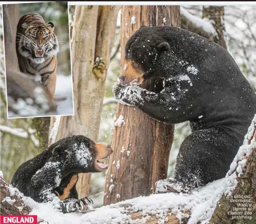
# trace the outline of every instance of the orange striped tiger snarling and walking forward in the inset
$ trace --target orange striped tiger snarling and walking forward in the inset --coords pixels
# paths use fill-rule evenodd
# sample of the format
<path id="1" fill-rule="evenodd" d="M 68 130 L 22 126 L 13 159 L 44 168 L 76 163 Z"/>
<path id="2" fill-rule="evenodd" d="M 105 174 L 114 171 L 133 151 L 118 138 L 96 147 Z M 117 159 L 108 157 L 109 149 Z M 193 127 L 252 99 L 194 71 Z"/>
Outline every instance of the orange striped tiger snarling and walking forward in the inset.
<path id="1" fill-rule="evenodd" d="M 59 42 L 52 22 L 45 23 L 38 13 L 22 16 L 17 25 L 16 53 L 21 72 L 27 73 L 53 100 L 57 80 Z"/>

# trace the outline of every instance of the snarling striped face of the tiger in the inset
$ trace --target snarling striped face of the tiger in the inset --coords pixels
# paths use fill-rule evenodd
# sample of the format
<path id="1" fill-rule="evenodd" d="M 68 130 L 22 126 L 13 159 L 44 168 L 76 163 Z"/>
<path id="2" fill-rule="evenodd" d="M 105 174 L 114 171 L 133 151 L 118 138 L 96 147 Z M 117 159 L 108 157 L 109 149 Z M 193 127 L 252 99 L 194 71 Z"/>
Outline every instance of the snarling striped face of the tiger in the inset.
<path id="1" fill-rule="evenodd" d="M 18 50 L 24 58 L 29 58 L 35 64 L 40 64 L 47 58 L 57 55 L 59 43 L 53 33 L 53 23 L 29 26 L 24 22 L 21 27 L 25 32 L 24 34 L 17 33 L 20 36 Z"/>

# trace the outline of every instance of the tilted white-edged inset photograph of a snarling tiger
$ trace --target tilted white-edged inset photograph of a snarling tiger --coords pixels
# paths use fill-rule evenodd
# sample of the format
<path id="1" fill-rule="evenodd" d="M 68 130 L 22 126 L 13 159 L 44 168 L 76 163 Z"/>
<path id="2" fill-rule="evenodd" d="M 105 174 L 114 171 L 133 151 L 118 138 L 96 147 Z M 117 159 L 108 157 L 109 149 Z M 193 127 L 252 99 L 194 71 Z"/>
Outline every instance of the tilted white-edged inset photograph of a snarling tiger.
<path id="1" fill-rule="evenodd" d="M 74 115 L 68 2 L 3 5 L 8 118 Z"/>

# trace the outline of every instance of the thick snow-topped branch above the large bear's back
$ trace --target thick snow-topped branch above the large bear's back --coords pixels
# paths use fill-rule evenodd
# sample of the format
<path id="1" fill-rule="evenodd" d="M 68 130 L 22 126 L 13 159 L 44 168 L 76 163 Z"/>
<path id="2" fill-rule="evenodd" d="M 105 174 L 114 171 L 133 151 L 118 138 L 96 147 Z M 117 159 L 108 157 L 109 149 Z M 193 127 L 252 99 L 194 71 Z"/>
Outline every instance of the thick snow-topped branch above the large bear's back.
<path id="1" fill-rule="evenodd" d="M 183 7 L 180 7 L 180 20 L 181 28 L 183 29 L 197 33 L 198 35 L 210 40 L 213 40 L 213 37 L 217 36 L 214 26 L 208 19 L 200 19 L 193 16 Z"/>

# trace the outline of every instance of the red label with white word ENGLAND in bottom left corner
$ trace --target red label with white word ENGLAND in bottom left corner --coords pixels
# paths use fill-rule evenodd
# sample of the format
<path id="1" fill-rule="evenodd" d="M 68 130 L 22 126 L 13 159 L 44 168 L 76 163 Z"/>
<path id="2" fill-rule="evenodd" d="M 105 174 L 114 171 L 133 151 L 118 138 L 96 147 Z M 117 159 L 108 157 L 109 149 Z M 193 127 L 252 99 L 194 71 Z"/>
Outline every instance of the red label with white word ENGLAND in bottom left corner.
<path id="1" fill-rule="evenodd" d="M 37 215 L 0 215 L 0 224 L 37 224 Z"/>

